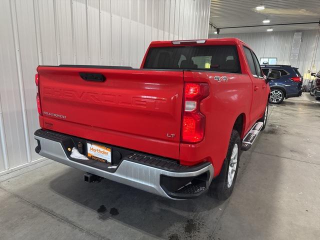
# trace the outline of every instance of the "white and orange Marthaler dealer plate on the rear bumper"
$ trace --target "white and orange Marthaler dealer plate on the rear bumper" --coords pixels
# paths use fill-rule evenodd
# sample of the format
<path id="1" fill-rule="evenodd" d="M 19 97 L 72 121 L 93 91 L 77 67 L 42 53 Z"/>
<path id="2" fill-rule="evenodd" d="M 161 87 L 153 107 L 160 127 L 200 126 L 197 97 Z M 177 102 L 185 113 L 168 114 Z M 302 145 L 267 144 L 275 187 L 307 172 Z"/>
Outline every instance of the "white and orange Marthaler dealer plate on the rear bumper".
<path id="1" fill-rule="evenodd" d="M 86 147 L 87 157 L 101 162 L 112 163 L 110 147 L 94 144 L 91 142 L 87 142 Z"/>

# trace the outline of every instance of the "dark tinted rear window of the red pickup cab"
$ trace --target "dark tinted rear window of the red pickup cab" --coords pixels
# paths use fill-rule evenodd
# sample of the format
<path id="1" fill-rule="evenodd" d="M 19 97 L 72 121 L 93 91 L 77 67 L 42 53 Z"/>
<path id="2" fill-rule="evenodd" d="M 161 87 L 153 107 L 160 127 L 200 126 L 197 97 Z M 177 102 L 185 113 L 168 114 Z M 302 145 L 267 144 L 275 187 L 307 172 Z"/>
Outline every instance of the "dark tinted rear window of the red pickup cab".
<path id="1" fill-rule="evenodd" d="M 151 47 L 143 68 L 241 73 L 235 45 Z"/>

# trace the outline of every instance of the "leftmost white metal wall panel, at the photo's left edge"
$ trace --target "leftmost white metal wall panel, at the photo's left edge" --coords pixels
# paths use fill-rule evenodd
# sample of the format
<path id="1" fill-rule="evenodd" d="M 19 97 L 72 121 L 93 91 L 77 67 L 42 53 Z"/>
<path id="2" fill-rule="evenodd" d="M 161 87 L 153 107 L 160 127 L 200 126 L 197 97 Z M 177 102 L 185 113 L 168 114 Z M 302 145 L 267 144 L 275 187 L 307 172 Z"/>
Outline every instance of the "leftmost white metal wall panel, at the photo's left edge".
<path id="1" fill-rule="evenodd" d="M 15 167 L 27 162 L 22 106 L 20 103 L 17 54 L 12 23 L 15 14 L 14 4 L 10 0 L 2 0 L 0 7 L 1 54 L 0 54 L 0 99 L 3 117 L 3 131 L 7 150 L 7 167 Z M 2 149 L 3 154 L 3 149 Z M 2 167 L 4 164 L 1 164 Z"/>

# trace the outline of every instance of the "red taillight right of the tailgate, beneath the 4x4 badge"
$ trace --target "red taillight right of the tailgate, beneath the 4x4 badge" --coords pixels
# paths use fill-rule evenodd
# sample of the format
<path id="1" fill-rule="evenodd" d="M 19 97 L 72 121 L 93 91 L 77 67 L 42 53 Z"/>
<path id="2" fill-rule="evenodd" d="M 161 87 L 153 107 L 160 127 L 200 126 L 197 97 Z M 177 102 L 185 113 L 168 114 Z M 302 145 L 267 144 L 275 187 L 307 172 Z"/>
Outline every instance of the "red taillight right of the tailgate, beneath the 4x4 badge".
<path id="1" fill-rule="evenodd" d="M 207 83 L 184 84 L 184 109 L 182 116 L 181 139 L 183 142 L 196 143 L 203 139 L 205 116 L 199 106 L 203 98 L 209 95 Z"/>

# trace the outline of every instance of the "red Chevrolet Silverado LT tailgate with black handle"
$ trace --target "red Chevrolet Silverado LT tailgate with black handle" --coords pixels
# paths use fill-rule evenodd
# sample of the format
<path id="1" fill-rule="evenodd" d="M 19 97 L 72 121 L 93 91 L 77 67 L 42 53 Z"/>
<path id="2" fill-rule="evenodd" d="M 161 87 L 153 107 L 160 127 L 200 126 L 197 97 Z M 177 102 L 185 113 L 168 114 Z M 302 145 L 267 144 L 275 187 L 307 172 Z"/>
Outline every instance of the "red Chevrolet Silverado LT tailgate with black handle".
<path id="1" fill-rule="evenodd" d="M 64 66 L 37 71 L 42 128 L 179 157 L 183 71 Z M 85 79 L 94 78 L 92 73 L 105 80 Z"/>

